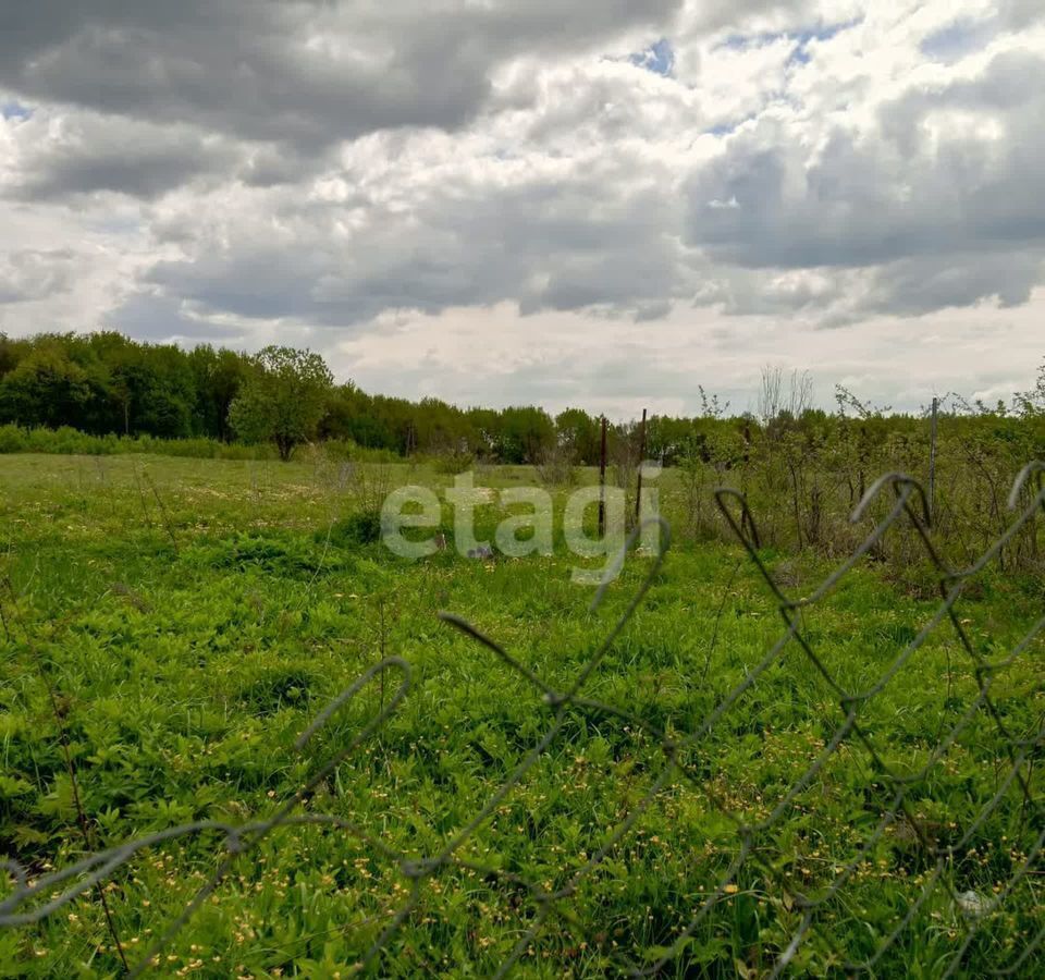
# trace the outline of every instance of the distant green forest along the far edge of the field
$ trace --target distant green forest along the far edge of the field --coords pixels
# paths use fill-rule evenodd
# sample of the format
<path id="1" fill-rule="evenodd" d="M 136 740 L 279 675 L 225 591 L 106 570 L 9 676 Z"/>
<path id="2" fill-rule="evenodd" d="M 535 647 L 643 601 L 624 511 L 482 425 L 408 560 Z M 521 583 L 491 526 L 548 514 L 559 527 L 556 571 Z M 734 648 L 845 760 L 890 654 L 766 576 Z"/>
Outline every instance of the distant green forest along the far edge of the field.
<path id="1" fill-rule="evenodd" d="M 269 429 L 278 429 L 278 421 L 269 420 L 269 429 L 247 425 L 248 392 L 254 392 L 256 402 L 266 402 L 262 382 L 273 365 L 282 370 L 290 357 L 297 360 L 283 379 L 287 402 L 297 401 L 293 371 L 305 363 L 302 358 L 311 366 L 309 390 L 318 392 L 312 415 L 297 421 L 295 444 L 306 439 L 344 440 L 401 456 L 468 455 L 502 463 L 539 463 L 550 453 L 565 451 L 571 462 L 598 462 L 600 420 L 581 408 L 552 417 L 536 406 L 459 408 L 431 397 L 413 402 L 368 394 L 351 381 L 335 384 L 318 355 L 268 350 L 285 355 L 284 359 L 266 360 L 263 352 L 247 355 L 206 344 L 186 351 L 171 344 L 138 343 L 114 332 L 46 333 L 27 339 L 0 333 L 0 425 L 71 427 L 94 436 L 272 441 Z M 923 415 L 876 408 L 841 388 L 836 389 L 836 413 L 814 408 L 807 376 L 764 370 L 761 381 L 753 414 L 730 415 L 728 405 L 697 388 L 694 394 L 699 392 L 702 403 L 698 416 L 651 418 L 646 433 L 648 457 L 673 463 L 694 444 L 708 442 L 711 433 L 720 438 L 723 430 L 742 446 L 774 425 L 811 432 L 848 421 L 859 425 L 865 434 L 877 431 L 880 438 L 924 428 Z M 278 393 L 272 395 L 276 397 Z M 1023 424 L 1031 420 L 1037 437 L 1031 441 L 1035 442 L 1045 418 L 1045 366 L 1037 388 L 1013 393 L 1010 405 L 969 405 L 949 397 L 944 411 L 981 420 L 987 417 L 1004 422 L 1003 428 L 1025 428 Z M 619 446 L 634 441 L 634 424 L 615 425 L 610 438 Z"/>

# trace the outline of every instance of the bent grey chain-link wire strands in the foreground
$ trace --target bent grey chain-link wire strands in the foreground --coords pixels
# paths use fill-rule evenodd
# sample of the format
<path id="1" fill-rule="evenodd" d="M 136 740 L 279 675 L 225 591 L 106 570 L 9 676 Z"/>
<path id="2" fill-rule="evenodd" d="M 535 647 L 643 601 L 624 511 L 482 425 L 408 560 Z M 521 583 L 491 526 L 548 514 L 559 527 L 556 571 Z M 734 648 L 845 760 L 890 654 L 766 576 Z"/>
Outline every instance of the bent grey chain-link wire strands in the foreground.
<path id="1" fill-rule="evenodd" d="M 274 831 L 285 828 L 320 826 L 339 830 L 356 837 L 361 845 L 371 848 L 376 855 L 394 862 L 406 883 L 407 896 L 402 904 L 386 907 L 378 917 L 368 917 L 367 922 L 386 920 L 383 930 L 361 957 L 360 967 L 377 966 L 382 953 L 392 951 L 392 944 L 397 931 L 415 911 L 421 901 L 421 886 L 425 882 L 450 870 L 469 871 L 478 874 L 488 883 L 497 884 L 518 895 L 527 896 L 532 903 L 531 917 L 526 928 L 521 929 L 520 938 L 515 947 L 503 959 L 496 970 L 497 977 L 509 973 L 520 957 L 531 948 L 544 924 L 552 918 L 560 920 L 568 928 L 585 931 L 571 907 L 571 899 L 578 890 L 591 879 L 606 862 L 606 859 L 622 846 L 631 834 L 640 818 L 653 806 L 654 801 L 667 789 L 674 781 L 681 779 L 700 794 L 709 804 L 729 819 L 736 834 L 736 849 L 733 859 L 725 871 L 717 879 L 708 882 L 706 897 L 690 910 L 688 919 L 677 923 L 674 931 L 674 941 L 668 946 L 660 947 L 653 955 L 644 959 L 632 958 L 637 951 L 615 953 L 616 967 L 623 975 L 635 977 L 651 976 L 664 970 L 669 964 L 678 968 L 686 967 L 686 958 L 692 950 L 692 940 L 698 929 L 712 912 L 732 901 L 738 892 L 738 881 L 743 874 L 757 873 L 766 883 L 784 896 L 785 908 L 794 915 L 797 923 L 790 928 L 786 944 L 771 963 L 766 976 L 778 977 L 794 967 L 796 956 L 804 943 L 817 938 L 820 946 L 831 951 L 829 963 L 836 970 L 848 975 L 875 973 L 881 970 L 886 954 L 905 942 L 905 935 L 910 932 L 922 911 L 931 901 L 938 899 L 942 894 L 949 902 L 955 916 L 954 928 L 958 930 L 955 948 L 942 963 L 922 965 L 923 971 L 934 976 L 950 977 L 962 975 L 970 969 L 968 957 L 978 940 L 983 939 L 992 951 L 992 961 L 983 958 L 975 964 L 975 972 L 989 972 L 994 976 L 1030 976 L 1034 973 L 1034 955 L 1045 941 L 1045 915 L 1042 914 L 1042 897 L 1038 890 L 1045 887 L 1042 875 L 1045 873 L 1042 862 L 1042 848 L 1045 845 L 1045 819 L 1043 819 L 1043 795 L 1041 793 L 1040 774 L 1035 772 L 1035 762 L 1040 763 L 1043 755 L 1043 737 L 1045 737 L 1045 718 L 1038 716 L 1035 727 L 1031 732 L 1012 731 L 1007 720 L 1007 712 L 999 707 L 994 688 L 998 678 L 1013 664 L 1029 656 L 1032 645 L 1045 629 L 1045 616 L 1037 620 L 1022 638 L 1005 656 L 985 656 L 972 640 L 966 628 L 968 621 L 962 621 L 956 605 L 962 597 L 967 586 L 991 562 L 998 558 L 1001 550 L 1025 528 L 1045 513 L 1045 464 L 1032 463 L 1019 474 L 1009 498 L 1010 511 L 1015 516 L 1005 530 L 992 546 L 970 566 L 962 569 L 951 568 L 941 556 L 939 550 L 933 541 L 930 528 L 930 509 L 921 485 L 902 474 L 887 474 L 881 477 L 866 492 L 856 512 L 853 522 L 865 522 L 874 510 L 878 499 L 892 493 L 888 510 L 884 517 L 878 519 L 856 551 L 839 564 L 815 589 L 803 598 L 791 598 L 785 587 L 774 577 L 762 558 L 757 525 L 753 514 L 748 507 L 745 497 L 729 489 L 715 491 L 715 499 L 726 522 L 737 539 L 743 546 L 747 554 L 761 575 L 770 590 L 783 618 L 784 629 L 776 641 L 766 650 L 762 659 L 750 670 L 743 679 L 722 697 L 706 713 L 700 724 L 688 734 L 671 734 L 663 727 L 650 722 L 641 713 L 627 707 L 604 703 L 585 695 L 585 687 L 592 678 L 600 663 L 613 648 L 622 632 L 632 618 L 648 591 L 654 584 L 668 548 L 669 531 L 665 522 L 655 518 L 661 525 L 661 547 L 650 563 L 636 595 L 628 603 L 624 613 L 614 623 L 608 634 L 598 646 L 594 653 L 574 677 L 573 683 L 564 690 L 558 690 L 537 673 L 531 671 L 512 653 L 504 649 L 495 639 L 480 632 L 475 625 L 453 614 L 444 613 L 441 617 L 450 626 L 460 630 L 474 641 L 483 646 L 492 656 L 500 659 L 507 667 L 524 678 L 542 698 L 550 718 L 548 727 L 521 761 L 507 775 L 501 785 L 487 799 L 485 804 L 468 820 L 464 826 L 450 834 L 442 847 L 428 855 L 406 854 L 390 847 L 384 841 L 370 833 L 358 823 L 334 814 L 315 812 L 297 812 L 306 804 L 317 787 L 332 776 L 339 767 L 351 756 L 360 750 L 372 736 L 379 733 L 396 709 L 410 693 L 413 672 L 410 664 L 401 657 L 388 657 L 362 673 L 355 683 L 340 694 L 315 719 L 308 728 L 300 735 L 296 748 L 305 751 L 314 738 L 323 730 L 334 715 L 344 711 L 365 688 L 376 681 L 383 682 L 385 675 L 397 676 L 398 685 L 381 710 L 367 722 L 339 751 L 331 756 L 323 764 L 317 767 L 314 774 L 294 794 L 292 798 L 281 805 L 273 813 L 247 823 L 234 825 L 232 823 L 205 820 L 182 824 L 158 833 L 147 834 L 120 846 L 89 854 L 83 859 L 67 867 L 49 871 L 32 878 L 28 870 L 15 860 L 0 861 L 12 879 L 10 894 L 0 902 L 0 928 L 25 927 L 40 922 L 70 903 L 86 895 L 99 884 L 113 879 L 120 869 L 127 865 L 140 852 L 157 847 L 182 837 L 189 837 L 207 833 L 217 833 L 223 838 L 223 849 L 217 861 L 213 873 L 199 887 L 190 902 L 181 914 L 146 950 L 137 963 L 130 966 L 130 976 L 139 976 L 159 963 L 159 954 L 167 948 L 174 936 L 185 928 L 193 915 L 202 903 L 211 896 L 230 875 L 237 861 L 254 850 L 261 841 Z M 1025 501 L 1019 510 L 1020 501 Z M 826 596 L 837 589 L 846 576 L 857 564 L 882 542 L 884 536 L 894 526 L 906 524 L 913 529 L 921 544 L 925 558 L 935 569 L 938 581 L 941 601 L 935 612 L 930 616 L 922 628 L 900 649 L 893 660 L 885 666 L 880 676 L 870 686 L 863 689 L 852 689 L 844 685 L 836 672 L 832 669 L 832 659 L 816 649 L 806 626 L 806 613 L 816 607 Z M 636 542 L 643 527 L 637 527 L 632 532 L 625 552 Z M 624 553 L 619 561 L 624 560 Z M 611 569 L 611 573 L 614 569 Z M 593 607 L 598 605 L 603 597 L 611 576 L 600 587 Z M 897 682 L 898 674 L 923 647 L 930 635 L 943 623 L 949 624 L 954 630 L 958 647 L 968 660 L 968 667 L 975 681 L 976 694 L 961 708 L 956 707 L 954 720 L 949 724 L 941 724 L 935 745 L 929 752 L 924 764 L 914 772 L 901 772 L 892 765 L 880 748 L 873 723 L 865 722 L 864 714 L 873 699 L 882 694 L 887 686 Z M 760 677 L 778 664 L 785 654 L 795 649 L 799 651 L 800 660 L 795 669 L 806 667 L 814 671 L 827 685 L 840 709 L 841 718 L 829 737 L 825 737 L 823 745 L 814 760 L 806 768 L 801 775 L 791 783 L 786 792 L 776 800 L 767 814 L 761 820 L 749 821 L 742 819 L 738 809 L 716 785 L 708 777 L 710 752 L 703 749 L 709 736 L 720 727 L 726 725 L 730 709 L 759 682 Z M 1036 675 L 1041 678 L 1041 672 Z M 948 672 L 948 687 L 950 676 Z M 383 689 L 383 687 L 382 687 Z M 1038 679 L 1029 697 L 1034 697 L 1042 690 Z M 509 797 L 513 789 L 519 786 L 562 734 L 567 719 L 573 713 L 580 713 L 594 718 L 612 716 L 627 722 L 628 725 L 651 736 L 663 751 L 663 763 L 652 777 L 649 787 L 639 800 L 631 806 L 627 814 L 615 825 L 605 829 L 602 843 L 587 857 L 565 884 L 556 889 L 528 880 L 525 875 L 505 870 L 500 866 L 475 861 L 464 855 L 466 845 L 474 838 L 477 831 L 496 813 L 499 807 Z M 932 773 L 939 765 L 959 737 L 967 733 L 978 722 L 986 720 L 993 732 L 992 740 L 986 749 L 994 752 L 994 792 L 986 799 L 978 800 L 979 810 L 973 819 L 963 829 L 950 834 L 949 842 L 938 838 L 934 828 L 919 813 L 919 805 L 932 799 Z M 782 870 L 778 862 L 774 862 L 766 849 L 762 846 L 767 835 L 787 823 L 792 817 L 799 800 L 811 787 L 828 777 L 828 764 L 843 751 L 851 752 L 861 749 L 870 761 L 873 777 L 869 782 L 869 789 L 874 796 L 884 797 L 880 807 L 876 825 L 862 842 L 855 847 L 851 857 L 846 861 L 834 861 L 824 879 L 813 887 L 808 886 L 796 875 Z M 1040 768 L 1040 767 L 1038 767 Z M 1013 799 L 1016 803 L 1013 804 Z M 1021 856 L 1015 862 L 1008 880 L 989 895 L 980 895 L 975 892 L 958 892 L 949 870 L 968 852 L 970 845 L 978 838 L 978 833 L 986 821 L 1001 807 L 1016 807 L 1018 810 L 1018 828 L 1020 841 L 1010 842 L 1016 848 L 1013 854 Z M 833 908 L 839 902 L 845 902 L 846 886 L 860 875 L 866 865 L 869 856 L 876 844 L 890 834 L 901 831 L 911 838 L 924 862 L 926 872 L 922 875 L 919 893 L 909 903 L 905 910 L 885 923 L 881 935 L 874 941 L 870 955 L 852 957 L 845 948 L 839 948 L 838 940 L 833 934 Z M 946 835 L 944 835 L 946 836 Z M 1019 845 L 1019 846 L 1017 846 Z M 1021 849 L 1022 848 L 1022 849 Z M 799 875 L 801 877 L 801 875 Z M 1034 911 L 1031 921 L 1037 924 L 1033 934 L 1025 935 L 1025 931 L 1009 936 L 998 936 L 999 914 L 1006 903 L 1019 890 L 1029 890 Z M 1037 916 L 1035 919 L 1034 916 Z M 520 922 L 520 928 L 521 928 Z M 877 928 L 881 923 L 875 923 Z M 346 927 L 351 928 L 351 923 Z M 869 927 L 870 928 L 870 927 Z M 985 936 L 986 932 L 991 932 Z M 590 938 L 590 936 L 589 936 Z M 1022 940 L 1022 944 L 1018 941 Z M 647 951 L 649 953 L 649 951 Z M 705 965 L 706 966 L 706 965 Z M 725 967 L 729 972 L 734 965 Z"/>

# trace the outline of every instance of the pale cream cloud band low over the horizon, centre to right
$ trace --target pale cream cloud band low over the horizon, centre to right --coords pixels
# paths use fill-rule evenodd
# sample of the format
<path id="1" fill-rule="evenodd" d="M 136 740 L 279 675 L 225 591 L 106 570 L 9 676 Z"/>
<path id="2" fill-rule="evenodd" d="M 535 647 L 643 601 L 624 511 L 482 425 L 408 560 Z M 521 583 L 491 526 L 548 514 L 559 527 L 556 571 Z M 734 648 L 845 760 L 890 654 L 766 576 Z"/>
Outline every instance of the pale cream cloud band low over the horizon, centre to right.
<path id="1" fill-rule="evenodd" d="M 699 409 L 701 384 L 743 412 L 754 407 L 761 367 L 775 364 L 811 369 L 816 401 L 828 408 L 841 383 L 876 404 L 918 409 L 950 390 L 1008 400 L 1030 387 L 1041 360 L 1045 291 L 991 319 L 985 314 L 936 311 L 918 329 L 875 315 L 861 329 L 825 331 L 802 319 L 723 318 L 708 307 L 676 307 L 638 327 L 563 311 L 520 319 L 506 304 L 453 310 L 439 330 L 425 316 L 382 318 L 373 332 L 331 339 L 324 351 L 340 376 L 367 390 L 462 405 L 540 401 L 555 412 L 582 405 L 635 418 L 643 407 Z"/>

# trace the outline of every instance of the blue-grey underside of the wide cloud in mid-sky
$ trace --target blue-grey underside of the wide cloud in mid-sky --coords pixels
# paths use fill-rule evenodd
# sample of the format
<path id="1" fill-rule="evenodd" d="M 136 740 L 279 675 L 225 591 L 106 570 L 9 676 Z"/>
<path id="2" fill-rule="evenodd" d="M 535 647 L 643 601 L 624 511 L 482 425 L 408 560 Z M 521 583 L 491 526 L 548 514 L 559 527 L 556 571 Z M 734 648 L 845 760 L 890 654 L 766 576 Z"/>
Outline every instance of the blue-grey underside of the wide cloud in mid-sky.
<path id="1" fill-rule="evenodd" d="M 284 197 L 285 236 L 223 229 L 149 280 L 213 310 L 328 324 L 502 301 L 525 313 L 608 304 L 648 315 L 679 291 L 679 246 L 665 231 L 668 201 L 632 168 L 608 161 L 505 186 L 466 163 L 447 184 L 418 188 L 409 208 L 377 204 L 382 187 L 344 204 Z M 351 235 L 339 231 L 353 221 Z M 181 223 L 172 234 L 183 236 Z"/>

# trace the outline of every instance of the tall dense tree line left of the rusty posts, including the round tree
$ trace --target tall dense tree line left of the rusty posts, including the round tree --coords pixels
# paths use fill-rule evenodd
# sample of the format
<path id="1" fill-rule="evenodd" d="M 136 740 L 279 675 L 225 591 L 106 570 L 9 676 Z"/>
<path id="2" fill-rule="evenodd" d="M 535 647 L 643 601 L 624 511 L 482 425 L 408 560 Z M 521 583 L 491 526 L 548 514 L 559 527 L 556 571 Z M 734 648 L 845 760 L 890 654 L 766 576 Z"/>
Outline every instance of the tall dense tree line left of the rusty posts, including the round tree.
<path id="1" fill-rule="evenodd" d="M 561 418 L 568 426 L 575 416 L 588 418 Z M 307 351 L 186 351 L 115 332 L 0 333 L 0 425 L 271 442 L 284 457 L 304 441 L 336 439 L 403 456 L 470 453 L 505 463 L 536 462 L 561 431 L 534 406 L 463 409 L 335 384 Z M 585 452 L 590 457 L 590 446 Z"/>

